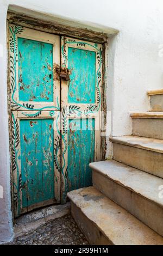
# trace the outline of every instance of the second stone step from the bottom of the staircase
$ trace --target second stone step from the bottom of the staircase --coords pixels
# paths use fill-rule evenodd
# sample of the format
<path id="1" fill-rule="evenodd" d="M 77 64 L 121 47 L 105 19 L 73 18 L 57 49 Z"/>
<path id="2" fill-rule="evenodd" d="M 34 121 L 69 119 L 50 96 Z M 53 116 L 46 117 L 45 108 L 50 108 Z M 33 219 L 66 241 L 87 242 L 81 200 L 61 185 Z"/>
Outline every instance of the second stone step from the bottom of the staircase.
<path id="1" fill-rule="evenodd" d="M 90 167 L 93 186 L 163 236 L 163 179 L 114 160 Z"/>

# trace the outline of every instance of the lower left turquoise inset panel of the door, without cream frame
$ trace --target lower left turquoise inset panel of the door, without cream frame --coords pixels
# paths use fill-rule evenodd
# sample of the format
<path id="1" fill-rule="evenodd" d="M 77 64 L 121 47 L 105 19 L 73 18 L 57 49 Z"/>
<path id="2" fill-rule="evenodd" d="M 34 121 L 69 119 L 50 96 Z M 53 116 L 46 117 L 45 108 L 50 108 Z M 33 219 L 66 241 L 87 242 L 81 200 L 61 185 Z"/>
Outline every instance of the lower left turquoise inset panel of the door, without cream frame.
<path id="1" fill-rule="evenodd" d="M 20 120 L 22 208 L 55 197 L 53 145 L 53 119 Z"/>

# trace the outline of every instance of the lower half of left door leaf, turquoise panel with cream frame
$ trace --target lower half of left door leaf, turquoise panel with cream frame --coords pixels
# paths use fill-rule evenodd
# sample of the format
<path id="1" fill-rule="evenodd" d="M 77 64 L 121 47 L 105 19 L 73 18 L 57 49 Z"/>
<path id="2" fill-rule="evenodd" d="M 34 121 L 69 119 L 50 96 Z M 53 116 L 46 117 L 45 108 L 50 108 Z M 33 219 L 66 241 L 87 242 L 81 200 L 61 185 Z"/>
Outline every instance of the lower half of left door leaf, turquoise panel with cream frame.
<path id="1" fill-rule="evenodd" d="M 60 113 L 12 111 L 15 217 L 60 202 Z M 30 117 L 30 118 L 29 118 Z"/>

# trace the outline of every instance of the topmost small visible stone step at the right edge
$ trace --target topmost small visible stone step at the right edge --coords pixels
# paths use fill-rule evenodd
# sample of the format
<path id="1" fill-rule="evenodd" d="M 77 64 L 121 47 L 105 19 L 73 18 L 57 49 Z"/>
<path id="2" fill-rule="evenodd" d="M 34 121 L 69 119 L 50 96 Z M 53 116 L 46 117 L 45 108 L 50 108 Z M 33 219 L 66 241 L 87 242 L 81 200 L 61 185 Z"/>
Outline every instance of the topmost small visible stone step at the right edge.
<path id="1" fill-rule="evenodd" d="M 150 111 L 163 111 L 163 89 L 151 90 L 148 96 L 150 96 Z"/>

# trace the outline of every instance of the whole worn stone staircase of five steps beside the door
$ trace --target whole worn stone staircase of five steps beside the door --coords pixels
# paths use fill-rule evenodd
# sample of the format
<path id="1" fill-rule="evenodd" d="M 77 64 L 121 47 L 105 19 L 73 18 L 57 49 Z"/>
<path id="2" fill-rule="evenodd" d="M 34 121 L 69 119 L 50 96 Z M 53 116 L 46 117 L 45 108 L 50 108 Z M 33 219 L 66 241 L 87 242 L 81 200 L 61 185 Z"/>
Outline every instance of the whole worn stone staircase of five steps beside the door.
<path id="1" fill-rule="evenodd" d="M 91 245 L 163 245 L 163 89 L 148 95 L 133 135 L 110 137 L 113 160 L 90 163 L 93 187 L 67 194 Z"/>

